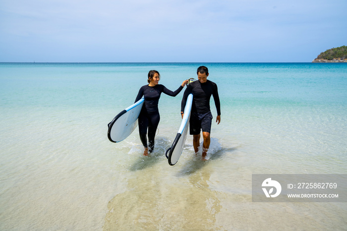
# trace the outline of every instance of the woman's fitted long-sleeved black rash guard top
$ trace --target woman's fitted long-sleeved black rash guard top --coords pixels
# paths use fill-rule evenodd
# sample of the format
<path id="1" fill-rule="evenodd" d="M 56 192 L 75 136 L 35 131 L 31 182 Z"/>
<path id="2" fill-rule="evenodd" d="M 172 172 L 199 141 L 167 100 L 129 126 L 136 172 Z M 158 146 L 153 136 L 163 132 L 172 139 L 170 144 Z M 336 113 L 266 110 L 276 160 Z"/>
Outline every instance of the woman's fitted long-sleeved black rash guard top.
<path id="1" fill-rule="evenodd" d="M 176 96 L 182 89 L 183 87 L 179 86 L 177 90 L 171 91 L 162 84 L 157 84 L 154 87 L 144 85 L 140 88 L 135 102 L 139 101 L 143 96 L 145 98 L 145 104 L 142 107 L 142 111 L 148 114 L 156 114 L 159 113 L 158 103 L 162 92 L 169 96 Z"/>

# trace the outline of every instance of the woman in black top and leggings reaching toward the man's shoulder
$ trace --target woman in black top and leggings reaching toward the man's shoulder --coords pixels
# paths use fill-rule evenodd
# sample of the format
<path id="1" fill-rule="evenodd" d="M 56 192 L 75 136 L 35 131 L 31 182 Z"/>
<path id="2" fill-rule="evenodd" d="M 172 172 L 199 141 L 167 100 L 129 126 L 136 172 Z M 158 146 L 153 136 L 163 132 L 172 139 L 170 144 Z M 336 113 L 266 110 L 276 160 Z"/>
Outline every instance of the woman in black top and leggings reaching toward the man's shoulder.
<path id="1" fill-rule="evenodd" d="M 158 84 L 160 80 L 160 74 L 156 70 L 150 70 L 148 72 L 148 85 L 144 85 L 140 88 L 135 102 L 139 101 L 142 96 L 145 99 L 145 103 L 142 106 L 141 113 L 138 118 L 139 133 L 141 143 L 143 144 L 145 151 L 144 156 L 148 155 L 148 152 L 152 152 L 154 148 L 154 137 L 157 131 L 157 127 L 160 120 L 158 102 L 162 92 L 169 96 L 176 96 L 188 83 L 188 80 L 184 80 L 181 86 L 174 92 L 167 89 L 164 85 Z M 148 128 L 148 145 L 147 145 L 147 128 Z"/>

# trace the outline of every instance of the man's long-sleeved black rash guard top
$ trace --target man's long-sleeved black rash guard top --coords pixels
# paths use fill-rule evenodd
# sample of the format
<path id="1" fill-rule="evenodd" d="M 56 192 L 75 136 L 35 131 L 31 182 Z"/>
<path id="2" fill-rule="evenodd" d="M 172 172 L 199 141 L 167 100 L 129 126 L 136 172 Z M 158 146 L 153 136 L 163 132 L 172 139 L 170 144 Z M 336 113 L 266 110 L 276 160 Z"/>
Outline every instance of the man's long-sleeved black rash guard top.
<path id="1" fill-rule="evenodd" d="M 217 109 L 217 116 L 221 115 L 221 103 L 219 101 L 217 84 L 210 80 L 207 80 L 205 83 L 201 83 L 199 80 L 189 83 L 182 98 L 181 112 L 184 112 L 187 97 L 190 93 L 193 94 L 193 105 L 191 108 L 192 112 L 202 114 L 211 112 L 210 99 L 211 95 L 213 95 Z"/>

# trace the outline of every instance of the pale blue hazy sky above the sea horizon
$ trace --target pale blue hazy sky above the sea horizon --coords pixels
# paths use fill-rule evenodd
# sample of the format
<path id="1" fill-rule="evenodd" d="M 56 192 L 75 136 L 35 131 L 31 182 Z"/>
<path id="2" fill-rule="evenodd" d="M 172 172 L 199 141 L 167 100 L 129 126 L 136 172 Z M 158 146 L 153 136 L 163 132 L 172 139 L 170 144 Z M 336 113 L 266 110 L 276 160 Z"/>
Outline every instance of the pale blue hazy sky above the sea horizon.
<path id="1" fill-rule="evenodd" d="M 347 0 L 0 0 L 0 62 L 311 62 Z"/>

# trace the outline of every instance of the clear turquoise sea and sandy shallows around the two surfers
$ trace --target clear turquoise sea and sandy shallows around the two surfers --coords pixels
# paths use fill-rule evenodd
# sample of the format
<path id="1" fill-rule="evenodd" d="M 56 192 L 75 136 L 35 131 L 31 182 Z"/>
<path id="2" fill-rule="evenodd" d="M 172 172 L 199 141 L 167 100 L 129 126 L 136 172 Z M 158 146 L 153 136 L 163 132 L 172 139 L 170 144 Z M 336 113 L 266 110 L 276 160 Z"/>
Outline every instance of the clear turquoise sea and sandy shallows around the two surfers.
<path id="1" fill-rule="evenodd" d="M 162 94 L 154 152 L 107 124 L 158 70 L 217 83 L 208 161 Z M 252 202 L 252 174 L 347 173 L 346 63 L 0 63 L 0 230 L 346 230 L 346 203 Z M 202 140 L 201 140 L 202 141 Z"/>

